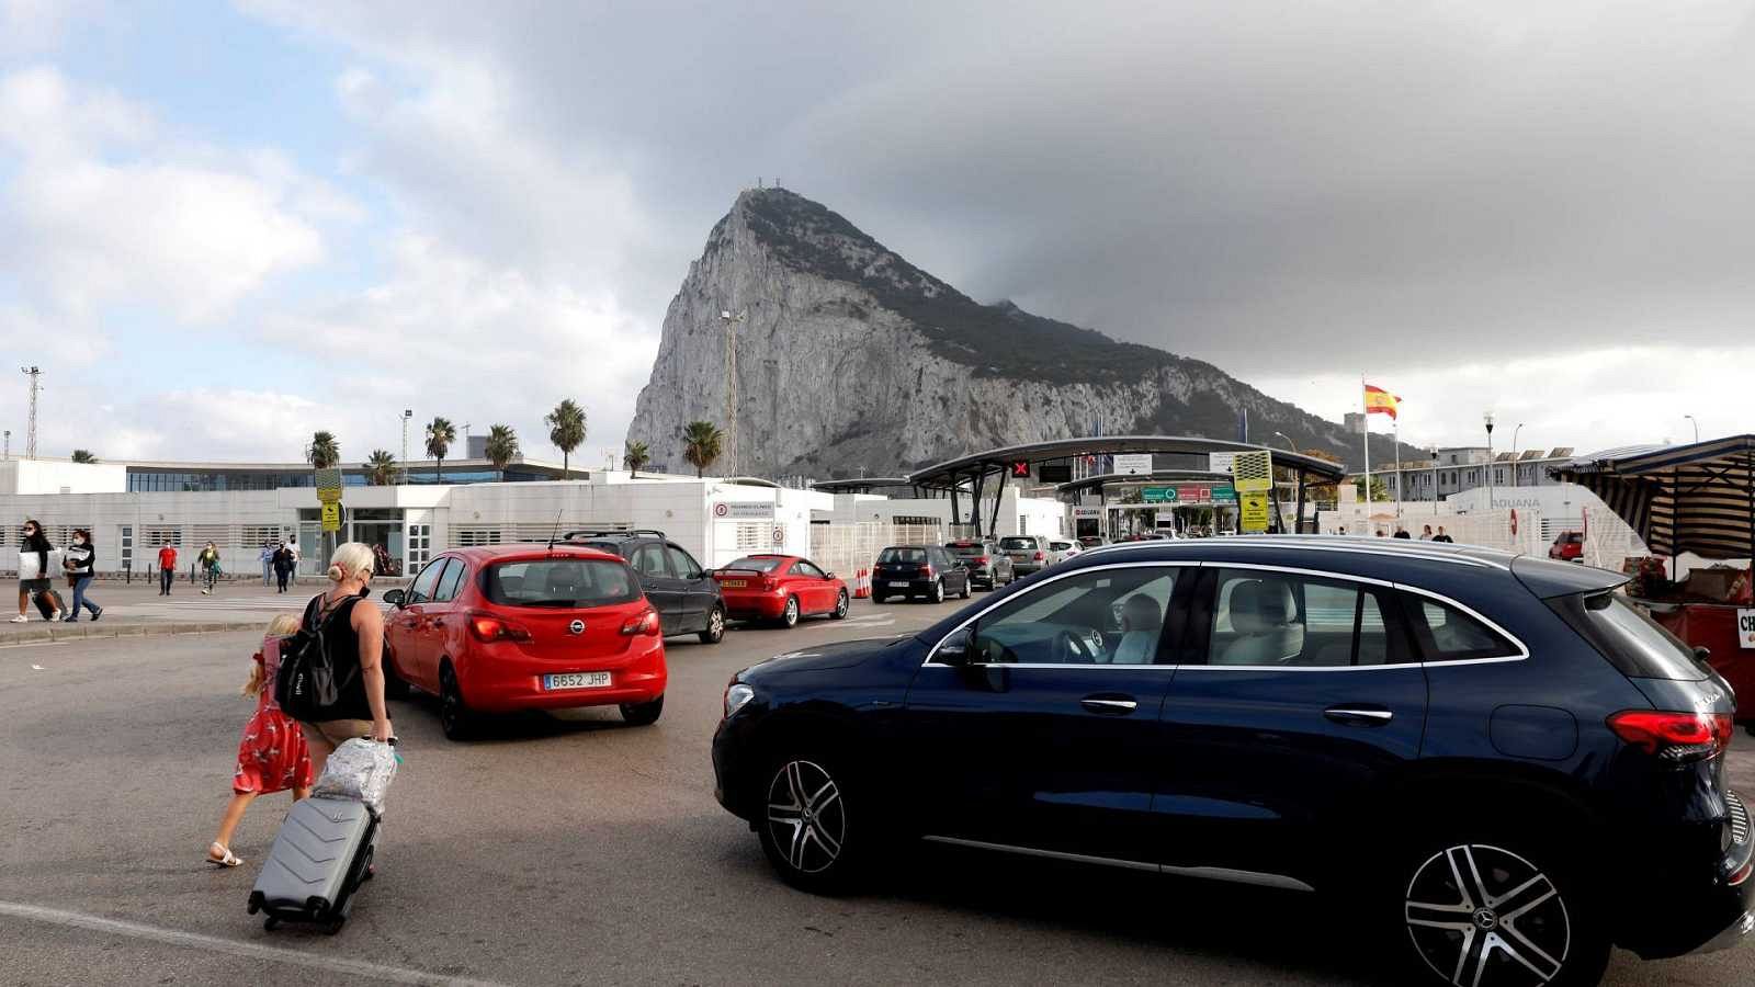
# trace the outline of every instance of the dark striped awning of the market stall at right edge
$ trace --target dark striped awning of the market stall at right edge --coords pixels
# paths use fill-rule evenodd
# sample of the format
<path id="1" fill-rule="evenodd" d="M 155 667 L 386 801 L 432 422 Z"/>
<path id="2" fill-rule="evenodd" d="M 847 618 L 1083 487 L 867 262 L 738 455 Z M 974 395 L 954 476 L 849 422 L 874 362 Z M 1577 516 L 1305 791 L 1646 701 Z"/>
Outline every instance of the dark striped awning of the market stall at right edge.
<path id="1" fill-rule="evenodd" d="M 1550 472 L 1601 497 L 1658 555 L 1755 555 L 1755 436 L 1608 450 Z"/>

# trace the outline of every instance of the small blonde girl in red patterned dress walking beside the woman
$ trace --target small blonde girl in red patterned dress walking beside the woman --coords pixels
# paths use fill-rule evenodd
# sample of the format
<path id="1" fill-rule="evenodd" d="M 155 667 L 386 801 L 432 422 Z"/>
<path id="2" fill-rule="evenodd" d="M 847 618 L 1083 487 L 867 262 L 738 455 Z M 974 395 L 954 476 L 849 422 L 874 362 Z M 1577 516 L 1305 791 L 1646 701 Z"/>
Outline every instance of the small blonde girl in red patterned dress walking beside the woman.
<path id="1" fill-rule="evenodd" d="M 237 769 L 232 771 L 232 801 L 219 817 L 219 832 L 207 845 L 207 862 L 216 868 L 235 868 L 244 862 L 232 852 L 232 834 L 244 818 L 244 810 L 256 796 L 293 792 L 293 799 L 311 796 L 311 746 L 298 724 L 274 702 L 274 674 L 281 669 L 281 641 L 298 634 L 298 618 L 283 613 L 269 622 L 269 634 L 253 655 L 244 695 L 256 699 L 256 713 L 244 724 L 237 743 Z"/>

